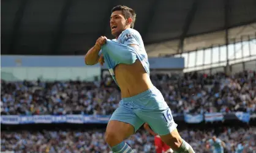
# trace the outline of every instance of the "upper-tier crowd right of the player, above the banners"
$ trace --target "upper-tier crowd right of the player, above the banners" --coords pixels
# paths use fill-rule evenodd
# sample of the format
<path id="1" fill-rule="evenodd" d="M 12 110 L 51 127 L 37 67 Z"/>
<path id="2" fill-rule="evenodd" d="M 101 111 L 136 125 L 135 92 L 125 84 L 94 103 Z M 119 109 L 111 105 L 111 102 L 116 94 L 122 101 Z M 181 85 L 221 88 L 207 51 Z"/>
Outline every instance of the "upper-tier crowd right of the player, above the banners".
<path id="1" fill-rule="evenodd" d="M 256 112 L 255 71 L 153 78 L 173 113 Z"/>

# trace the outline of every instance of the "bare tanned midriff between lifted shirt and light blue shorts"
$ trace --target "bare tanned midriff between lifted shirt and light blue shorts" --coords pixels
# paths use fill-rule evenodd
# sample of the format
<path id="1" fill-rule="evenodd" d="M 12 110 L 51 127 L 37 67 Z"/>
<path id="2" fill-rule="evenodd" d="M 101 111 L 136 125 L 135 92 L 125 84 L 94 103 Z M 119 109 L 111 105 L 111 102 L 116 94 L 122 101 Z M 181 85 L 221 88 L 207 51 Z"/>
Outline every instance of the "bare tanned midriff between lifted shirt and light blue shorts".
<path id="1" fill-rule="evenodd" d="M 121 89 L 122 98 L 135 96 L 153 87 L 149 75 L 136 60 L 132 65 L 119 64 L 115 68 L 116 82 Z"/>

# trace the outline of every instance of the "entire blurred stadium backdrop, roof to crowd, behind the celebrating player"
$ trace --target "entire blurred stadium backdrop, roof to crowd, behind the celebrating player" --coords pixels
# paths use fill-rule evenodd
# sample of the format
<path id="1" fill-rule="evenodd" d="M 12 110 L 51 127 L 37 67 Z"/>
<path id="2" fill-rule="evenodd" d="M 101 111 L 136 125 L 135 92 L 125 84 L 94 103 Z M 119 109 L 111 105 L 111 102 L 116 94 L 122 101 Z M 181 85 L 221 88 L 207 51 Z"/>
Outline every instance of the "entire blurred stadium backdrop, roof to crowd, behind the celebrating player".
<path id="1" fill-rule="evenodd" d="M 195 152 L 213 135 L 225 152 L 255 152 L 255 0 L 1 0 L 1 152 L 111 152 L 119 89 L 83 58 L 112 38 L 118 4 L 137 12 L 152 82 Z M 143 127 L 126 142 L 155 152 Z"/>

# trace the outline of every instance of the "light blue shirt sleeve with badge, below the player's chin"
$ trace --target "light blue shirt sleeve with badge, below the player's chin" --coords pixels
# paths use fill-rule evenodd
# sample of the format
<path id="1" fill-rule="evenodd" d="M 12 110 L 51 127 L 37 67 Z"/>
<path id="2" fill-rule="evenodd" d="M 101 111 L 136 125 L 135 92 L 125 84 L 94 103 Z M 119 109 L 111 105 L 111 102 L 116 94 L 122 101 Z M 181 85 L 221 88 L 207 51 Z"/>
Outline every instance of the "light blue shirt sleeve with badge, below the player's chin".
<path id="1" fill-rule="evenodd" d="M 132 29 L 126 29 L 124 30 L 124 32 L 122 32 L 121 42 L 125 45 L 137 44 L 139 46 L 139 38 L 140 34 L 138 34 L 137 31 L 133 31 Z"/>

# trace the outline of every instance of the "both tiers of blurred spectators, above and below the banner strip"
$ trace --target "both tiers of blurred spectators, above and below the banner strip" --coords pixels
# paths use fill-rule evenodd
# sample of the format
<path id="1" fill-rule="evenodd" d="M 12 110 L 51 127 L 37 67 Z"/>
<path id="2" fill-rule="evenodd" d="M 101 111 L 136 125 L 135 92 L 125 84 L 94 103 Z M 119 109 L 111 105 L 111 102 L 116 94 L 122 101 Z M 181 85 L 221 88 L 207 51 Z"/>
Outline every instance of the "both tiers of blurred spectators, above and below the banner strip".
<path id="1" fill-rule="evenodd" d="M 164 95 L 172 113 L 256 113 L 256 74 L 244 71 L 233 76 L 187 73 L 184 76 L 156 74 L 153 84 Z M 1 115 L 111 115 L 121 99 L 119 89 L 108 79 L 102 82 L 6 82 L 1 80 Z M 213 130 L 181 130 L 195 152 L 209 152 L 205 141 Z M 256 150 L 256 129 L 221 127 L 217 135 L 225 151 L 234 152 L 242 141 Z M 135 152 L 154 152 L 154 138 L 139 130 L 127 140 Z M 110 152 L 104 129 L 94 130 L 1 130 L 1 151 L 17 152 Z M 249 150 L 247 152 L 250 152 Z"/>

